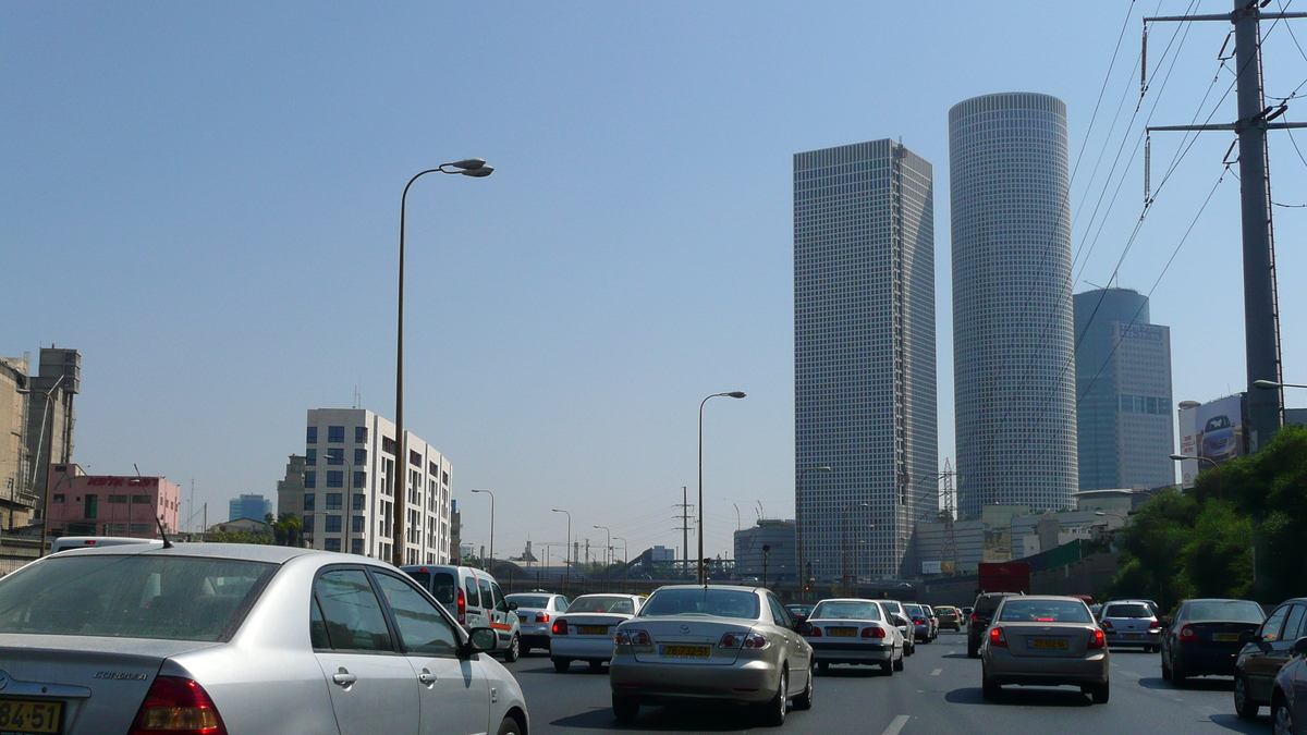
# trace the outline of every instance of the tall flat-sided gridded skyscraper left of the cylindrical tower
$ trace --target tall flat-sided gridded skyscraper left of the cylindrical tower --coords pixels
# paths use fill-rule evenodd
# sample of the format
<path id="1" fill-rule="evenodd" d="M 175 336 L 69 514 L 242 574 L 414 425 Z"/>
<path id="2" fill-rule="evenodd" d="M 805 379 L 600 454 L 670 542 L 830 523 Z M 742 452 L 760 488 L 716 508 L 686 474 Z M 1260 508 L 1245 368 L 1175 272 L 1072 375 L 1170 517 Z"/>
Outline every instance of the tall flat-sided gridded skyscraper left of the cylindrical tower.
<path id="1" fill-rule="evenodd" d="M 931 163 L 901 144 L 795 154 L 795 514 L 817 579 L 919 572 L 912 523 L 938 507 L 933 220 Z"/>

